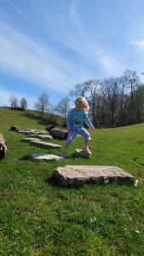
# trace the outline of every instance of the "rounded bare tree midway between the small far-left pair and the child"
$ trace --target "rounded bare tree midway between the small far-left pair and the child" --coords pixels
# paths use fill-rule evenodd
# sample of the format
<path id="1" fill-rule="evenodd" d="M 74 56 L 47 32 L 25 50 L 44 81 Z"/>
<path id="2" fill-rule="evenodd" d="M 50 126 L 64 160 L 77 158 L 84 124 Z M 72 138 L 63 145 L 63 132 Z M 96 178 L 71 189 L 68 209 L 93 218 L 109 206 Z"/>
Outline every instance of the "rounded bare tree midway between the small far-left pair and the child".
<path id="1" fill-rule="evenodd" d="M 37 102 L 34 104 L 36 110 L 41 113 L 42 118 L 44 116 L 44 112 L 48 111 L 49 106 L 49 95 L 47 93 L 42 93 L 41 96 L 38 97 Z"/>

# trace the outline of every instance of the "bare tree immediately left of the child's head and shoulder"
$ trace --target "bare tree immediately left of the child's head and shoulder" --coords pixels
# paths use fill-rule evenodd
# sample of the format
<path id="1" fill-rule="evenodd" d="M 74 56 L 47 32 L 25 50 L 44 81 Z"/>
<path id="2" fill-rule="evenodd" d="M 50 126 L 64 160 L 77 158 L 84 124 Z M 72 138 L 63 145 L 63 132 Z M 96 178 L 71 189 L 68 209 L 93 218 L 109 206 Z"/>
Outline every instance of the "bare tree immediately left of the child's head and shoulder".
<path id="1" fill-rule="evenodd" d="M 66 125 L 66 114 L 70 109 L 70 105 L 71 105 L 70 99 L 68 96 L 66 96 L 62 98 L 60 102 L 58 102 L 55 106 L 55 112 L 60 113 L 60 115 L 64 118 L 65 125 Z"/>

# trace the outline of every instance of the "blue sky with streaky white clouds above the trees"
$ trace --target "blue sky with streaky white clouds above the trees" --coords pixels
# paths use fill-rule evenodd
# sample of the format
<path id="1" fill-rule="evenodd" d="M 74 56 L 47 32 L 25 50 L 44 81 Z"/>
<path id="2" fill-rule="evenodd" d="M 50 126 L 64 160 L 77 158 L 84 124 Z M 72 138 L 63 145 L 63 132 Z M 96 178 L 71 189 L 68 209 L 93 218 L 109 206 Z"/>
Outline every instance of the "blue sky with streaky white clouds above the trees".
<path id="1" fill-rule="evenodd" d="M 143 0 L 0 0 L 0 106 L 56 104 L 75 84 L 135 70 L 144 81 Z"/>

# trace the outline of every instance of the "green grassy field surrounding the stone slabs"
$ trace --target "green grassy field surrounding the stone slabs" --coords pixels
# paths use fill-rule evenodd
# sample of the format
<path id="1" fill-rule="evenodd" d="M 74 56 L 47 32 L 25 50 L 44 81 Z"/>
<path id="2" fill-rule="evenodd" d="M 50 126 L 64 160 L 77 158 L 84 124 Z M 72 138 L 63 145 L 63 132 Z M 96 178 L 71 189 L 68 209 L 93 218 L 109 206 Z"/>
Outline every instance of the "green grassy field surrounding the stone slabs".
<path id="1" fill-rule="evenodd" d="M 26 136 L 9 131 L 11 125 L 45 129 L 38 119 L 0 108 L 0 131 L 9 148 L 0 162 L 0 255 L 144 255 L 144 124 L 96 130 L 89 160 L 50 163 L 24 160 L 48 150 L 21 142 Z M 67 155 L 81 147 L 78 137 Z M 139 183 L 136 189 L 112 184 L 62 189 L 51 183 L 51 175 L 65 165 L 118 166 Z"/>

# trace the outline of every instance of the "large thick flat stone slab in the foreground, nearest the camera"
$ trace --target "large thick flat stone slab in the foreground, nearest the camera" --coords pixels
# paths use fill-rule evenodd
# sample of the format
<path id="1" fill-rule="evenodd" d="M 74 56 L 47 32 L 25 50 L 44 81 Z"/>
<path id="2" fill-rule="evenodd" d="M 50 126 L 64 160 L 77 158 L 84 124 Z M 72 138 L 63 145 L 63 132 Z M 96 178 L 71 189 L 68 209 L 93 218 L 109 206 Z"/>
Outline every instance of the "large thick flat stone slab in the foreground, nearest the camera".
<path id="1" fill-rule="evenodd" d="M 117 166 L 63 166 L 53 172 L 55 183 L 77 186 L 83 183 L 134 183 L 135 177 Z"/>

